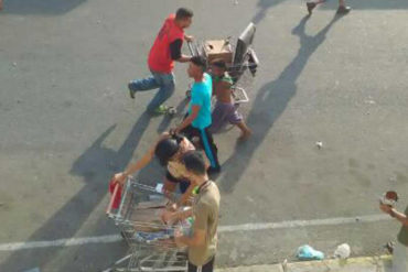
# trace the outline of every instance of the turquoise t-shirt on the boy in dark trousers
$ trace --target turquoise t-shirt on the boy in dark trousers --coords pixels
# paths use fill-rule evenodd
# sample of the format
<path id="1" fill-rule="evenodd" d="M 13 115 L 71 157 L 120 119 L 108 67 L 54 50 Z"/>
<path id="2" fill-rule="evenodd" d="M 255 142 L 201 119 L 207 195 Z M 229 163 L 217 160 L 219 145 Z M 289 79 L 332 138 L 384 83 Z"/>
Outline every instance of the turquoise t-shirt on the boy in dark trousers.
<path id="1" fill-rule="evenodd" d="M 211 97 L 213 96 L 213 80 L 211 76 L 204 73 L 204 80 L 194 83 L 191 89 L 191 100 L 189 115 L 192 112 L 192 106 L 200 106 L 200 111 L 192 122 L 193 128 L 205 129 L 211 126 Z"/>

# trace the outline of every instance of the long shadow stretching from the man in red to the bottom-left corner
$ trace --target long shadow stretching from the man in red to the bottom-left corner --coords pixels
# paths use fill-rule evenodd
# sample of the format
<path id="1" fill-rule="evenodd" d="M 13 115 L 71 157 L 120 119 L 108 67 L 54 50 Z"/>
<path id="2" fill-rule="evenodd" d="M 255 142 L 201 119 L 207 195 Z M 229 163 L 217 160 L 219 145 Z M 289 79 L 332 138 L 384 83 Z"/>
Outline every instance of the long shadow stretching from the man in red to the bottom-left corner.
<path id="1" fill-rule="evenodd" d="M 143 113 L 135 123 L 118 151 L 104 146 L 104 141 L 115 130 L 108 128 L 73 164 L 71 174 L 83 177 L 84 186 L 58 209 L 26 241 L 54 240 L 74 237 L 99 205 L 107 193 L 109 178 L 131 161 L 133 151 L 148 128 L 150 117 Z M 63 248 L 50 250 L 15 251 L 0 265 L 0 271 L 24 271 L 42 269 Z M 28 266 L 26 266 L 28 265 Z"/>

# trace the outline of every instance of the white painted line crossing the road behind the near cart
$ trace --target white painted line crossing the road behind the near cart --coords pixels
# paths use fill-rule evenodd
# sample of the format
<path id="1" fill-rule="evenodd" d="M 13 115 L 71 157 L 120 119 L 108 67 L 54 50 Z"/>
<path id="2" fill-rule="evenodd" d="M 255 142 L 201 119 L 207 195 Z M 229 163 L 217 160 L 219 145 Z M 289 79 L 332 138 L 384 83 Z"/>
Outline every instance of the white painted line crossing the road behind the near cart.
<path id="1" fill-rule="evenodd" d="M 337 218 L 313 219 L 313 220 L 293 220 L 293 221 L 281 221 L 281 222 L 254 222 L 254 224 L 244 224 L 244 225 L 221 226 L 218 228 L 218 232 L 254 231 L 254 230 L 266 230 L 266 229 L 289 229 L 289 228 L 301 228 L 301 227 L 313 227 L 313 226 L 339 226 L 339 225 L 347 225 L 347 224 L 376 222 L 376 221 L 383 221 L 383 220 L 390 220 L 390 217 L 387 215 L 371 215 L 371 216 L 337 217 Z M 111 235 L 111 236 L 58 239 L 58 240 L 52 240 L 52 241 L 11 242 L 11 243 L 0 243 L 0 251 L 17 251 L 17 250 L 23 250 L 23 249 L 37 249 L 37 248 L 51 248 L 51 247 L 72 247 L 72 246 L 82 246 L 82 244 L 87 244 L 87 243 L 117 242 L 121 240 L 122 240 L 121 236 Z"/>

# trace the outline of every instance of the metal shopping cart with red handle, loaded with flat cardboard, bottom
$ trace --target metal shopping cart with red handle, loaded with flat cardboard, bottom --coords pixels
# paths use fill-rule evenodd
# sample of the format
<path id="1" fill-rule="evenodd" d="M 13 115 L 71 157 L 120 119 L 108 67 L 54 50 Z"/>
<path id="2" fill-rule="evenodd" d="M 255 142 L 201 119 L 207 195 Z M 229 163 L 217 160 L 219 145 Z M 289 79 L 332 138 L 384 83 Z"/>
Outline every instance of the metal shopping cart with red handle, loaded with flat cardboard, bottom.
<path id="1" fill-rule="evenodd" d="M 161 214 L 173 209 L 179 195 L 164 192 L 162 184 L 150 186 L 129 177 L 122 188 L 120 206 L 112 209 L 119 194 L 116 185 L 107 215 L 115 220 L 129 246 L 126 257 L 115 262 L 108 271 L 182 272 L 187 269 L 186 249 L 174 242 L 174 231 L 189 235 L 191 219 L 169 226 L 162 222 Z"/>

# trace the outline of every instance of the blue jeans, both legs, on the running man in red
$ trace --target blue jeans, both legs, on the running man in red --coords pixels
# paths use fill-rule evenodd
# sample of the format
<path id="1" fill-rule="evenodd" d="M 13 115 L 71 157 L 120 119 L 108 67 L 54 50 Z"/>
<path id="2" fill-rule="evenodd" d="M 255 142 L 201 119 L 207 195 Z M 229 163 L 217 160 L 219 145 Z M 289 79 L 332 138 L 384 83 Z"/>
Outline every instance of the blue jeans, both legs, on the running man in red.
<path id="1" fill-rule="evenodd" d="M 153 99 L 148 105 L 148 112 L 154 113 L 154 110 L 168 100 L 174 93 L 175 79 L 174 74 L 163 74 L 150 70 L 152 76 L 143 79 L 131 80 L 128 85 L 132 91 L 143 91 L 159 88 Z"/>

